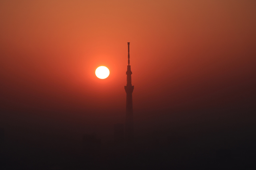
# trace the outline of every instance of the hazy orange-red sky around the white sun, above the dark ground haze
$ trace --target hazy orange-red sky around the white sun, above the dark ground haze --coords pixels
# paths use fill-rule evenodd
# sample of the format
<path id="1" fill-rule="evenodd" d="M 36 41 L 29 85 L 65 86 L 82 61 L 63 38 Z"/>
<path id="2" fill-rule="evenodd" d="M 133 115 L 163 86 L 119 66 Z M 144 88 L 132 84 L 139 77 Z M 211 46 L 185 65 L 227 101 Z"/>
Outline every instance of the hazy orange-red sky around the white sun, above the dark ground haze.
<path id="1" fill-rule="evenodd" d="M 135 119 L 255 109 L 255 9 L 255 0 L 2 0 L 1 108 L 122 121 L 130 42 Z M 107 79 L 96 77 L 100 65 Z"/>

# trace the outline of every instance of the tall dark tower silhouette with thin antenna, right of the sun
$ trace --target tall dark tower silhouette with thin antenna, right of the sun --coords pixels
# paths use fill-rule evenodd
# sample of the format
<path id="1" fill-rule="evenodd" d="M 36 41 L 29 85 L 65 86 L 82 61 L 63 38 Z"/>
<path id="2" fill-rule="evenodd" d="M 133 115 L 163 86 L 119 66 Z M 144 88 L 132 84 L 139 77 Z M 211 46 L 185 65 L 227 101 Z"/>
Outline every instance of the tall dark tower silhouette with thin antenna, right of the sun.
<path id="1" fill-rule="evenodd" d="M 126 92 L 126 118 L 124 127 L 124 137 L 126 141 L 131 141 L 134 138 L 133 131 L 133 111 L 132 111 L 132 92 L 134 86 L 132 85 L 132 71 L 130 66 L 130 43 L 128 42 L 128 65 L 127 65 L 127 84 L 124 86 Z"/>

